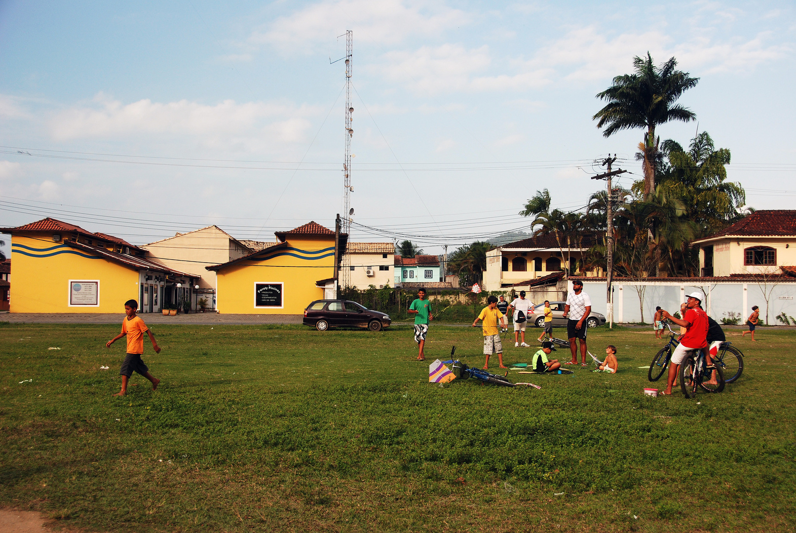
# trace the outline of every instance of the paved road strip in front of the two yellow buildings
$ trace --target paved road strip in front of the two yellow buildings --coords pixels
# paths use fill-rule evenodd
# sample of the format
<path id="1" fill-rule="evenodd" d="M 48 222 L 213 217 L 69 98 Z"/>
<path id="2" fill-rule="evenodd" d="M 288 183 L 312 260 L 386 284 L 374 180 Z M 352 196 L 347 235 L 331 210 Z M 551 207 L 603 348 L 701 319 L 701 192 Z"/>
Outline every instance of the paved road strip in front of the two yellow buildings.
<path id="1" fill-rule="evenodd" d="M 166 317 L 163 313 L 142 313 L 147 324 L 301 324 L 300 314 L 220 314 L 180 313 Z M 124 313 L 0 313 L 0 321 L 16 324 L 117 324 Z"/>

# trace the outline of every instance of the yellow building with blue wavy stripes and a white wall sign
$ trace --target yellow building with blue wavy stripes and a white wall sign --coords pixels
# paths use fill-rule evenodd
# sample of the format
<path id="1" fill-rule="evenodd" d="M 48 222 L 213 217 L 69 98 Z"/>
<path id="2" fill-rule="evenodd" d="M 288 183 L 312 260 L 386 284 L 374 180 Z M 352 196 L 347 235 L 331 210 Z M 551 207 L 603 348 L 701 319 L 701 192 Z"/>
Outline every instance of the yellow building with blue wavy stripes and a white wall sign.
<path id="1" fill-rule="evenodd" d="M 131 299 L 142 313 L 158 312 L 165 290 L 189 298 L 198 279 L 123 239 L 52 218 L 0 232 L 11 234 L 11 313 L 122 313 Z"/>

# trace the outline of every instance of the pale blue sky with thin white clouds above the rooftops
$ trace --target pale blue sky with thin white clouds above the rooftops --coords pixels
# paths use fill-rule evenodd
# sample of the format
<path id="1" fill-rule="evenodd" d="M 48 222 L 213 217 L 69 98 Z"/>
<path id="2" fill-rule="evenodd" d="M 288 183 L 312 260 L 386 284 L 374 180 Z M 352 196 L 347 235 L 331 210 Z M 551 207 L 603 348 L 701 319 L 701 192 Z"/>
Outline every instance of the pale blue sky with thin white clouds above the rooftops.
<path id="1" fill-rule="evenodd" d="M 642 132 L 603 138 L 591 116 L 647 51 L 700 78 L 681 103 L 747 204 L 796 196 L 792 2 L 4 1 L 0 225 L 50 215 L 132 243 L 334 228 L 346 29 L 354 220 L 426 251 L 527 226 L 537 189 L 582 207 L 606 154 L 637 179 Z"/>

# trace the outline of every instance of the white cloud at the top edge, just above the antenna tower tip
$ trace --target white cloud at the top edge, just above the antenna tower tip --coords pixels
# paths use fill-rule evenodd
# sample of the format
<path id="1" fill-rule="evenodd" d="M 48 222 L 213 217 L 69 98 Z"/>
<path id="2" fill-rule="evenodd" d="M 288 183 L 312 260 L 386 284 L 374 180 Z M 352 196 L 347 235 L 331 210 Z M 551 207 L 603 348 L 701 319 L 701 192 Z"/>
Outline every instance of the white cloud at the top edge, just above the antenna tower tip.
<path id="1" fill-rule="evenodd" d="M 276 19 L 252 33 L 249 42 L 272 45 L 286 52 L 308 52 L 316 43 L 332 43 L 346 29 L 351 29 L 357 41 L 394 44 L 412 35 L 435 37 L 446 29 L 467 24 L 470 19 L 470 14 L 441 2 L 324 1 Z"/>

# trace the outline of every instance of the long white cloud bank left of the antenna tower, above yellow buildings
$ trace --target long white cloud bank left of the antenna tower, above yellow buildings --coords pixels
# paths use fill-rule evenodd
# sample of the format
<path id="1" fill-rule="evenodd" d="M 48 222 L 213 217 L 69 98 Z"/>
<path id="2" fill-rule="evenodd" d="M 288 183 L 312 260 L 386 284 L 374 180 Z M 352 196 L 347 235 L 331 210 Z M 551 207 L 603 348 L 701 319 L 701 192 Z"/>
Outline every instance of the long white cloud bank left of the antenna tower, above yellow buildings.
<path id="1" fill-rule="evenodd" d="M 124 137 L 142 134 L 181 134 L 197 137 L 204 146 L 233 146 L 249 150 L 263 139 L 302 142 L 310 128 L 307 117 L 320 108 L 292 103 L 236 103 L 224 100 L 205 105 L 188 100 L 158 103 L 142 99 L 122 103 L 98 95 L 93 105 L 61 111 L 49 123 L 57 141 L 75 138 Z"/>

